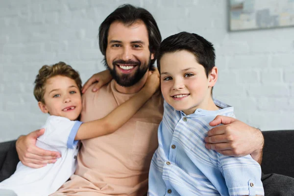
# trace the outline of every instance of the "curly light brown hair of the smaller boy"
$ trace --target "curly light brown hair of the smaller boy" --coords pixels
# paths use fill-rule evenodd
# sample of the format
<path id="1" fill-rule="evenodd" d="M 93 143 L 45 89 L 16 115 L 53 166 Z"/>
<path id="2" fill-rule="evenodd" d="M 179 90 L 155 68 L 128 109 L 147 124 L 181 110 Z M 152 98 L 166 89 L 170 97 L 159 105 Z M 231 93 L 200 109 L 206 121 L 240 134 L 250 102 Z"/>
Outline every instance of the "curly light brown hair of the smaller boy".
<path id="1" fill-rule="evenodd" d="M 54 77 L 56 75 L 62 75 L 73 79 L 79 88 L 80 92 L 82 89 L 82 81 L 79 76 L 79 73 L 75 71 L 70 65 L 67 65 L 64 62 L 59 62 L 54 65 L 44 65 L 40 70 L 39 74 L 36 76 L 35 79 L 35 87 L 34 87 L 34 96 L 37 101 L 44 101 L 44 94 L 45 94 L 45 85 L 49 78 Z"/>

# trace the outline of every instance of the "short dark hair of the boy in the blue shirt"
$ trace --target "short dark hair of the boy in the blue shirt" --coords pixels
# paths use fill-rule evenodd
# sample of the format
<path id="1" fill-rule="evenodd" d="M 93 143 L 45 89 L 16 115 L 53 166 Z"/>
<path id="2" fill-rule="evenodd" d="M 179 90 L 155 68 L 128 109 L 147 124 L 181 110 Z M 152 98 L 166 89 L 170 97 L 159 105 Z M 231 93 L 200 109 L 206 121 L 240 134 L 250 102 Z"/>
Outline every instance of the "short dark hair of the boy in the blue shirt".
<path id="1" fill-rule="evenodd" d="M 168 52 L 187 50 L 195 55 L 196 61 L 205 69 L 206 76 L 215 66 L 215 49 L 213 44 L 203 37 L 188 32 L 180 32 L 164 39 L 157 52 L 157 68 L 160 72 L 160 59 Z"/>

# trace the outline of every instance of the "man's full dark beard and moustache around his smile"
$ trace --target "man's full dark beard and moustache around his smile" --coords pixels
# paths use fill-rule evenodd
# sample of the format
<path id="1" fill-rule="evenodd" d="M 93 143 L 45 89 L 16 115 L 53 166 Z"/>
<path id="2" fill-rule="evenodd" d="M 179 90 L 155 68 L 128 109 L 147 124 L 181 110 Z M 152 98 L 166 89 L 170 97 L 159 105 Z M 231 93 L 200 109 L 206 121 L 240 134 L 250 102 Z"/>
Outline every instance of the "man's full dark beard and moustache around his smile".
<path id="1" fill-rule="evenodd" d="M 141 67 L 141 62 L 140 61 L 124 61 L 124 60 L 115 60 L 112 62 L 113 65 L 113 69 L 110 69 L 109 66 L 107 65 L 106 59 L 104 58 L 104 64 L 105 66 L 107 66 L 107 69 L 110 71 L 110 74 L 112 76 L 112 78 L 120 85 L 123 87 L 130 87 L 133 86 L 134 84 L 136 84 L 137 82 L 139 82 L 142 77 L 145 75 L 145 73 L 147 72 L 149 66 L 151 63 L 151 58 L 149 57 L 148 60 L 148 64 L 144 65 L 143 67 Z M 134 65 L 134 66 L 138 66 L 137 70 L 135 71 L 135 73 L 133 73 L 132 75 L 130 74 L 118 74 L 115 67 L 117 66 L 117 64 L 120 65 Z"/>

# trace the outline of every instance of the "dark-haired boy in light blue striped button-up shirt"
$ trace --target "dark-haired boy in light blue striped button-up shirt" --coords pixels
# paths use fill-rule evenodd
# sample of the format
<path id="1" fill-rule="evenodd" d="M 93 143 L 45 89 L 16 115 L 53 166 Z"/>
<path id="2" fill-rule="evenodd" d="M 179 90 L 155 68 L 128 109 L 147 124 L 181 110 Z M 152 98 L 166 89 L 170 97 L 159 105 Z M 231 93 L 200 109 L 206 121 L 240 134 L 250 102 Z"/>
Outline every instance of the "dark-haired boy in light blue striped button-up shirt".
<path id="1" fill-rule="evenodd" d="M 148 195 L 264 195 L 260 165 L 250 155 L 205 148 L 209 123 L 217 115 L 235 117 L 233 107 L 212 98 L 218 78 L 213 45 L 194 33 L 172 35 L 160 45 L 157 67 L 165 102 Z"/>

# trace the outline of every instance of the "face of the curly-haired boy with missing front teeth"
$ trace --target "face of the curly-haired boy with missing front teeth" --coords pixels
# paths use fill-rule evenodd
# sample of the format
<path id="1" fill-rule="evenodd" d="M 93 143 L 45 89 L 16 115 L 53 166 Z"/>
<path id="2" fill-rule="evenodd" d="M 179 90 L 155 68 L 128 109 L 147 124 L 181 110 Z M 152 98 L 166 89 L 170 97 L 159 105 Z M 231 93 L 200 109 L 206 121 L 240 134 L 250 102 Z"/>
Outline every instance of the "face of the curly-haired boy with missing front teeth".
<path id="1" fill-rule="evenodd" d="M 50 115 L 76 120 L 82 110 L 81 94 L 75 81 L 57 75 L 47 80 L 44 94 L 45 104 L 38 102 L 40 109 Z"/>

